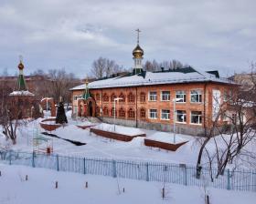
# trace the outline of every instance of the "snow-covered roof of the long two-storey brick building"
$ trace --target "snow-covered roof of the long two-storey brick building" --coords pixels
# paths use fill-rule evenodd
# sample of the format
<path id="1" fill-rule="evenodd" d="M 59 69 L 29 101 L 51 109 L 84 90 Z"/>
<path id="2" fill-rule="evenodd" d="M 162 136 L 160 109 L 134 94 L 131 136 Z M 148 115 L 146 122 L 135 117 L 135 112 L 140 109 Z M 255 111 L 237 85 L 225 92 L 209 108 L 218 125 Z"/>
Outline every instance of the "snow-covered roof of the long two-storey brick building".
<path id="1" fill-rule="evenodd" d="M 135 87 L 162 84 L 180 84 L 188 82 L 219 82 L 225 84 L 234 84 L 226 78 L 219 78 L 207 72 L 145 72 L 145 75 L 132 76 L 116 76 L 107 79 L 93 81 L 89 84 L 89 88 L 106 88 L 106 87 Z M 73 87 L 70 90 L 84 89 L 85 85 Z"/>

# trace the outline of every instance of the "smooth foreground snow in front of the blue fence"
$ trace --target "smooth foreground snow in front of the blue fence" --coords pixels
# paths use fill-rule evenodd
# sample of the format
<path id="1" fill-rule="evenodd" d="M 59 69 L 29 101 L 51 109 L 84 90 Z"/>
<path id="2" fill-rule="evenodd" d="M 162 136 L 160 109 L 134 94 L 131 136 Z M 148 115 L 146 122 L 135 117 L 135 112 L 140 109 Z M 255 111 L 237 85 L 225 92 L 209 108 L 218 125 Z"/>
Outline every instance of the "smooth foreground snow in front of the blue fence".
<path id="1" fill-rule="evenodd" d="M 204 204 L 205 189 L 133 179 L 58 172 L 44 168 L 5 166 L 0 164 L 1 204 L 101 204 L 101 203 L 173 203 Z M 26 180 L 26 175 L 28 180 Z M 58 181 L 59 188 L 55 189 Z M 88 189 L 85 183 L 88 182 Z M 123 193 L 124 188 L 124 193 Z M 119 192 L 120 189 L 120 192 Z M 206 189 L 212 204 L 254 204 L 254 192 Z"/>

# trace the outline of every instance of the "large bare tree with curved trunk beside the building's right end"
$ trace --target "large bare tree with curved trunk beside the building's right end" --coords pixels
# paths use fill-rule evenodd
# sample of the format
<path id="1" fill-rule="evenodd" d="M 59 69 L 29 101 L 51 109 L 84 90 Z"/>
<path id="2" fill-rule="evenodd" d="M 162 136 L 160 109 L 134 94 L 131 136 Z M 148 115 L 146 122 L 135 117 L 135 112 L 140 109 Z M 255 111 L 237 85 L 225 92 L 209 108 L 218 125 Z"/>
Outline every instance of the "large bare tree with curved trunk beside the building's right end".
<path id="1" fill-rule="evenodd" d="M 252 73 L 251 78 L 253 78 Z M 212 128 L 206 130 L 205 138 L 201 139 L 197 158 L 197 178 L 201 174 L 201 160 L 204 153 L 207 154 L 209 168 L 217 167 L 216 177 L 223 175 L 229 164 L 236 162 L 238 165 L 238 159 L 242 159 L 245 155 L 256 158 L 253 152 L 245 148 L 256 138 L 255 83 L 251 83 L 250 87 L 236 87 L 235 90 L 232 94 L 226 93 L 223 102 L 219 104 L 219 111 L 212 122 Z M 215 100 L 218 101 L 218 98 Z M 219 120 L 227 121 L 227 125 L 221 126 Z M 208 149 L 209 141 L 214 143 L 214 149 L 211 151 Z"/>

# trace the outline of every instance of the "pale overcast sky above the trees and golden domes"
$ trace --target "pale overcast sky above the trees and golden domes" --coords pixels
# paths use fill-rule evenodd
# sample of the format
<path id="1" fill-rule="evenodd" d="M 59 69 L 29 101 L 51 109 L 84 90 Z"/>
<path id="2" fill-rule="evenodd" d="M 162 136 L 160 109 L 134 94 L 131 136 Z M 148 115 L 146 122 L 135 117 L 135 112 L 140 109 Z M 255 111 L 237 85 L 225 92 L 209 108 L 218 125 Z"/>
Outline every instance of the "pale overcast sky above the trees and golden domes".
<path id="1" fill-rule="evenodd" d="M 0 74 L 62 68 L 86 76 L 99 56 L 133 66 L 135 29 L 145 60 L 178 59 L 222 73 L 256 60 L 255 0 L 1 0 Z"/>

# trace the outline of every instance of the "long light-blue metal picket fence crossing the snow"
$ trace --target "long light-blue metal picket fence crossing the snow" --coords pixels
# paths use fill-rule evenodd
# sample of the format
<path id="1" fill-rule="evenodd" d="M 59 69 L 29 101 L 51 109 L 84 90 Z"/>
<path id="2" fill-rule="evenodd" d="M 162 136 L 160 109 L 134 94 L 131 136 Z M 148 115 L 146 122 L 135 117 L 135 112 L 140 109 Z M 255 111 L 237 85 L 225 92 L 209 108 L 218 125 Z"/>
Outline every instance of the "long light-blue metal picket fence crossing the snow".
<path id="1" fill-rule="evenodd" d="M 256 171 L 226 170 L 218 179 L 211 180 L 210 170 L 202 168 L 200 179 L 196 168 L 185 164 L 160 162 L 136 162 L 103 158 L 73 158 L 42 153 L 0 152 L 0 162 L 9 165 L 25 165 L 33 168 L 51 168 L 58 171 L 110 176 L 113 178 L 140 179 L 181 185 L 256 191 Z M 215 175 L 217 169 L 213 169 Z"/>

